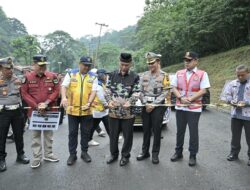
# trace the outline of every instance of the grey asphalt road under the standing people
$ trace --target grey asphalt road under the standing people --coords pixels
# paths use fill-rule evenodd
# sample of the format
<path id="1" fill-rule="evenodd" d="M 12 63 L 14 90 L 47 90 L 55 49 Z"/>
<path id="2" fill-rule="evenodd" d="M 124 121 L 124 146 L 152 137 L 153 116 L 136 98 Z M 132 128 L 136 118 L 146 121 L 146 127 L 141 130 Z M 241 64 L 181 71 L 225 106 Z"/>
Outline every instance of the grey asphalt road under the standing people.
<path id="1" fill-rule="evenodd" d="M 108 137 L 94 139 L 101 143 L 91 147 L 92 162 L 87 164 L 80 159 L 74 166 L 67 166 L 68 133 L 65 122 L 54 135 L 54 152 L 59 163 L 42 162 L 38 169 L 15 162 L 16 153 L 13 143 L 7 144 L 6 172 L 0 173 L 0 190 L 40 190 L 40 189 L 79 189 L 79 190 L 247 190 L 250 189 L 250 167 L 247 166 L 247 145 L 242 135 L 242 150 L 239 161 L 228 162 L 230 150 L 230 116 L 215 110 L 202 114 L 200 120 L 200 152 L 197 166 L 188 166 L 187 130 L 184 159 L 172 163 L 171 155 L 175 147 L 175 113 L 171 113 L 170 123 L 163 130 L 160 164 L 153 165 L 151 160 L 138 162 L 136 156 L 141 150 L 142 132 L 134 132 L 134 144 L 130 163 L 120 167 L 119 162 L 106 164 L 109 156 Z M 121 143 L 122 144 L 122 143 Z M 121 146 L 120 144 L 120 146 Z M 25 151 L 31 158 L 31 133 L 25 132 Z"/>

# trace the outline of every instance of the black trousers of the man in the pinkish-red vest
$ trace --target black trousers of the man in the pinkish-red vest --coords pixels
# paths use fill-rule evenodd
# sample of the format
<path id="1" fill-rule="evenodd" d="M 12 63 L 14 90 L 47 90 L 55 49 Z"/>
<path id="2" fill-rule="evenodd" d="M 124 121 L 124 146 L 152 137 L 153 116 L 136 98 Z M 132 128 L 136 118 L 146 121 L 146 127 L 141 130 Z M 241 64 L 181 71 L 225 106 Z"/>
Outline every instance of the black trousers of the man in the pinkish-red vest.
<path id="1" fill-rule="evenodd" d="M 177 134 L 176 134 L 176 148 L 175 151 L 177 154 L 182 154 L 184 137 L 186 133 L 186 127 L 189 127 L 189 152 L 190 155 L 196 155 L 199 149 L 199 120 L 200 112 L 190 112 L 190 111 L 181 111 L 176 110 L 176 125 L 177 125 Z"/>

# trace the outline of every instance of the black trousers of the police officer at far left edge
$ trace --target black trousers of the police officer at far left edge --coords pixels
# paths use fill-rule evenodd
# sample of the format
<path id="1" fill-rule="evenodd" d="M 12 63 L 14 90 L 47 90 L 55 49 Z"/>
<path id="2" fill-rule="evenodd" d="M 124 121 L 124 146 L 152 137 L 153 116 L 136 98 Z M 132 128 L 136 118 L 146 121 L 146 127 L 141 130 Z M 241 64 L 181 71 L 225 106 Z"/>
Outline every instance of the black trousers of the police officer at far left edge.
<path id="1" fill-rule="evenodd" d="M 2 110 L 0 112 L 0 160 L 5 160 L 7 153 L 5 152 L 6 138 L 9 127 L 12 126 L 16 151 L 18 155 L 24 154 L 23 151 L 23 126 L 24 117 L 21 109 Z"/>

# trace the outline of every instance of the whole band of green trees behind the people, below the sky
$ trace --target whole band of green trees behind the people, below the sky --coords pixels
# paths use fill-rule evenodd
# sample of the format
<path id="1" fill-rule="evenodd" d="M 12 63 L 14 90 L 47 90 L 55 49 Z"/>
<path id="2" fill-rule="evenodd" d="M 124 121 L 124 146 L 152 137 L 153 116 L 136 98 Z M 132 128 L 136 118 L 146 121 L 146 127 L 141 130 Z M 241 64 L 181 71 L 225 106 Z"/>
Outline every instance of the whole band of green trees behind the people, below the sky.
<path id="1" fill-rule="evenodd" d="M 92 35 L 77 40 L 64 31 L 31 36 L 0 7 L 0 57 L 13 55 L 29 64 L 34 53 L 42 52 L 58 71 L 88 54 L 97 66 L 112 70 L 119 53 L 126 51 L 133 54 L 134 68 L 143 71 L 147 51 L 161 53 L 167 66 L 180 62 L 189 50 L 206 56 L 250 44 L 250 0 L 145 0 L 144 9 L 135 26 L 105 33 L 97 48 L 99 39 Z"/>

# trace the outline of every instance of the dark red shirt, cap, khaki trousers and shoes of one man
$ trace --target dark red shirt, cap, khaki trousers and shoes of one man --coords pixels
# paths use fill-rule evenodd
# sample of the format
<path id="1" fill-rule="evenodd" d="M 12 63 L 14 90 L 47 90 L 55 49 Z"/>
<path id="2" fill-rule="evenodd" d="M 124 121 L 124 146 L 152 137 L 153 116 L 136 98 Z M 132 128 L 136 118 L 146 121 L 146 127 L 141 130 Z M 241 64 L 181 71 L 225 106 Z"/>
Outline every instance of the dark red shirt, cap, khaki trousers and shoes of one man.
<path id="1" fill-rule="evenodd" d="M 33 63 L 37 64 L 39 67 L 44 67 L 48 64 L 47 57 L 44 55 L 35 55 L 33 57 Z M 28 111 L 28 116 L 31 117 L 33 110 L 40 109 L 39 105 L 41 103 L 46 105 L 46 110 L 55 106 L 59 91 L 60 85 L 56 74 L 48 71 L 45 71 L 43 74 L 38 74 L 36 71 L 27 73 L 22 81 L 21 92 L 24 101 L 31 107 Z M 52 151 L 53 131 L 34 130 L 32 132 L 33 162 L 31 168 L 37 168 L 41 164 L 42 134 L 44 137 L 43 159 L 50 162 L 59 161 Z"/>

